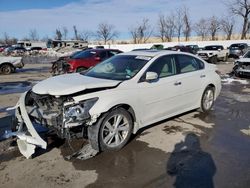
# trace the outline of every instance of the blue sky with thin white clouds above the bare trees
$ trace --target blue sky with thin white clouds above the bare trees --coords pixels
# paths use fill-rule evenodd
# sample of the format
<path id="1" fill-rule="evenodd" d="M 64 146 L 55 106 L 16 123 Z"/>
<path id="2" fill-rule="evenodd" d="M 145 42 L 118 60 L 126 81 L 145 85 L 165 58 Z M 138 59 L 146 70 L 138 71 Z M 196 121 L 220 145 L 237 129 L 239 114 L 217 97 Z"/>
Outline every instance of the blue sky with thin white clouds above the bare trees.
<path id="1" fill-rule="evenodd" d="M 167 15 L 182 6 L 189 8 L 193 22 L 227 14 L 222 0 L 0 0 L 0 37 L 7 32 L 20 39 L 30 29 L 36 29 L 40 38 L 53 37 L 63 26 L 73 36 L 73 25 L 79 31 L 95 31 L 100 22 L 107 22 L 126 39 L 128 28 L 143 18 L 155 26 L 160 13 Z"/>

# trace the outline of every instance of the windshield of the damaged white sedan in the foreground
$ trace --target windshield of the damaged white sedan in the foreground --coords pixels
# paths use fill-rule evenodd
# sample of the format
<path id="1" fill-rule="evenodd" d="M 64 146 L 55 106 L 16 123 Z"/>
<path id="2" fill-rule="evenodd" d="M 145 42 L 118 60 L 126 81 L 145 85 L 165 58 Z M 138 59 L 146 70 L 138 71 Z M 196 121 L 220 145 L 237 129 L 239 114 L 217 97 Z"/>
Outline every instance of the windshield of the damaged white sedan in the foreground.
<path id="1" fill-rule="evenodd" d="M 151 59 L 148 56 L 117 55 L 84 73 L 85 76 L 110 80 L 128 80 Z"/>

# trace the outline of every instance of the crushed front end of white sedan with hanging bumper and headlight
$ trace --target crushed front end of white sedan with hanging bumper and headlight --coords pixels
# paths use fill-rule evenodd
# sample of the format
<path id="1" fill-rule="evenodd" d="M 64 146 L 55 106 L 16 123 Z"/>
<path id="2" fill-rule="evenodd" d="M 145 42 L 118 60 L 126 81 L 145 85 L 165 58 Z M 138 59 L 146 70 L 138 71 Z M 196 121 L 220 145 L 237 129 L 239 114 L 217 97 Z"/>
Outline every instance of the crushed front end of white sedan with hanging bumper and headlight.
<path id="1" fill-rule="evenodd" d="M 28 91 L 20 97 L 16 108 L 17 144 L 20 152 L 31 158 L 36 147 L 47 148 L 46 137 L 38 126 L 55 132 L 62 139 L 84 138 L 87 128 L 98 116 L 89 114 L 98 98 L 75 102 L 70 96 L 38 95 Z"/>

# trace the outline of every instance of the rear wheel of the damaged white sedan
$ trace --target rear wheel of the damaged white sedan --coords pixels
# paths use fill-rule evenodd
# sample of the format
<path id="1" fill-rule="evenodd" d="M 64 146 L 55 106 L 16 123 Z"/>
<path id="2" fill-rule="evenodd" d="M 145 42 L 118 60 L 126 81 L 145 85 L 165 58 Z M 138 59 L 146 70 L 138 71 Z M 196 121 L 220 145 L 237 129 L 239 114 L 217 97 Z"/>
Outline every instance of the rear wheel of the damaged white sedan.
<path id="1" fill-rule="evenodd" d="M 209 112 L 214 105 L 214 87 L 208 86 L 201 97 L 201 111 Z"/>

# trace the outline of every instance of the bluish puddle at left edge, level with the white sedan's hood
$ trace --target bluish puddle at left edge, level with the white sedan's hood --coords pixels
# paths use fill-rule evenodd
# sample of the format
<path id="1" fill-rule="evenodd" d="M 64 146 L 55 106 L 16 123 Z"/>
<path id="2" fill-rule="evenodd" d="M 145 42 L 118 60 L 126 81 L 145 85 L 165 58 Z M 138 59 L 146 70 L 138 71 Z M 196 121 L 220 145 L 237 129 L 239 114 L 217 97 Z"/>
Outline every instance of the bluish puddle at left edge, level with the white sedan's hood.
<path id="1" fill-rule="evenodd" d="M 0 95 L 23 93 L 32 87 L 31 82 L 5 82 L 0 83 Z"/>

